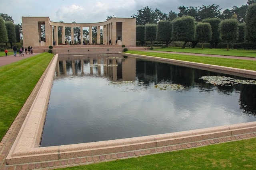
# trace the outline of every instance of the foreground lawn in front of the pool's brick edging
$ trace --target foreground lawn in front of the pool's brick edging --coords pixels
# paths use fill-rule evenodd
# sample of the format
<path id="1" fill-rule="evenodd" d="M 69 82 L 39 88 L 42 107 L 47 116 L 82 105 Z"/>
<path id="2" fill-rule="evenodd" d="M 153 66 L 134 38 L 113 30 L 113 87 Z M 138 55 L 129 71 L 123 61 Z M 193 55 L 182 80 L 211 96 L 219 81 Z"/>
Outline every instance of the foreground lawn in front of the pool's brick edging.
<path id="1" fill-rule="evenodd" d="M 242 170 L 256 168 L 256 139 L 61 170 Z"/>

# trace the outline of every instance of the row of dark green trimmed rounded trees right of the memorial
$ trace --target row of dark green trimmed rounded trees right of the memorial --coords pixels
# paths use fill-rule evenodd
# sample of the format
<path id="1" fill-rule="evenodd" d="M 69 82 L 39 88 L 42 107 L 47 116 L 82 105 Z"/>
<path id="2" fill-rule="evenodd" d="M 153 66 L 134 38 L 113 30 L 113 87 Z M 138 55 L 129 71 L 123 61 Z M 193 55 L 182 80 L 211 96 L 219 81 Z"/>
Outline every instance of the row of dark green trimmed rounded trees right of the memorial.
<path id="1" fill-rule="evenodd" d="M 136 25 L 136 41 L 143 46 L 145 41 L 158 40 L 166 44 L 171 41 L 184 41 L 192 43 L 195 47 L 197 43 L 210 43 L 210 48 L 216 48 L 218 43 L 243 43 L 256 42 L 256 4 L 250 4 L 247 8 L 245 24 L 239 23 L 236 14 L 230 19 L 206 18 L 197 22 L 193 16 L 182 16 L 172 21 L 158 21 L 147 23 L 146 25 Z M 227 50 L 229 46 L 227 46 Z"/>

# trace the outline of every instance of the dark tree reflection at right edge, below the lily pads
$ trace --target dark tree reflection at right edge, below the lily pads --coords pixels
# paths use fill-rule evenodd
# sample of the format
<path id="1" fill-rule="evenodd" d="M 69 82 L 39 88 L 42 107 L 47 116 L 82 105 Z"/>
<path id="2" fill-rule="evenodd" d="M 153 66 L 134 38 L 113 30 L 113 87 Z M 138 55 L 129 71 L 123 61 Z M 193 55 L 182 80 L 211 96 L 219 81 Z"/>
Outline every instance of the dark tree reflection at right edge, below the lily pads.
<path id="1" fill-rule="evenodd" d="M 256 116 L 256 85 L 241 84 L 239 102 L 244 113 Z"/>

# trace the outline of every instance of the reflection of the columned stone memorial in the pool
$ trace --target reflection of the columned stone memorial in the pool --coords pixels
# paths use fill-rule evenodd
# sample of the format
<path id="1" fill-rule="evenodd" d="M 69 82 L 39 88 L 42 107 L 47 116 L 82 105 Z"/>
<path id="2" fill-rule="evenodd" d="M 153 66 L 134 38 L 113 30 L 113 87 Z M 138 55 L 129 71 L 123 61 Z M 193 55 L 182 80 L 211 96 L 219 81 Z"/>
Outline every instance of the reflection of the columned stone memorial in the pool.
<path id="1" fill-rule="evenodd" d="M 136 59 L 122 55 L 62 55 L 57 61 L 56 78 L 64 76 L 101 76 L 113 81 L 134 81 Z"/>

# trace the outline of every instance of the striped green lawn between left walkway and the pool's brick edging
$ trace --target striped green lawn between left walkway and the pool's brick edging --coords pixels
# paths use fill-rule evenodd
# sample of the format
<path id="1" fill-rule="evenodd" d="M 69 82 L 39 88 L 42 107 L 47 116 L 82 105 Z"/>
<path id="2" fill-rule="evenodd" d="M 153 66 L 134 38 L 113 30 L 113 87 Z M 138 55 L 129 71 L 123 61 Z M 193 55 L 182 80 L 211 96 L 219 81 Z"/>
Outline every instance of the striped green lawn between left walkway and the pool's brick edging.
<path id="1" fill-rule="evenodd" d="M 0 67 L 0 141 L 53 56 L 42 53 Z"/>

